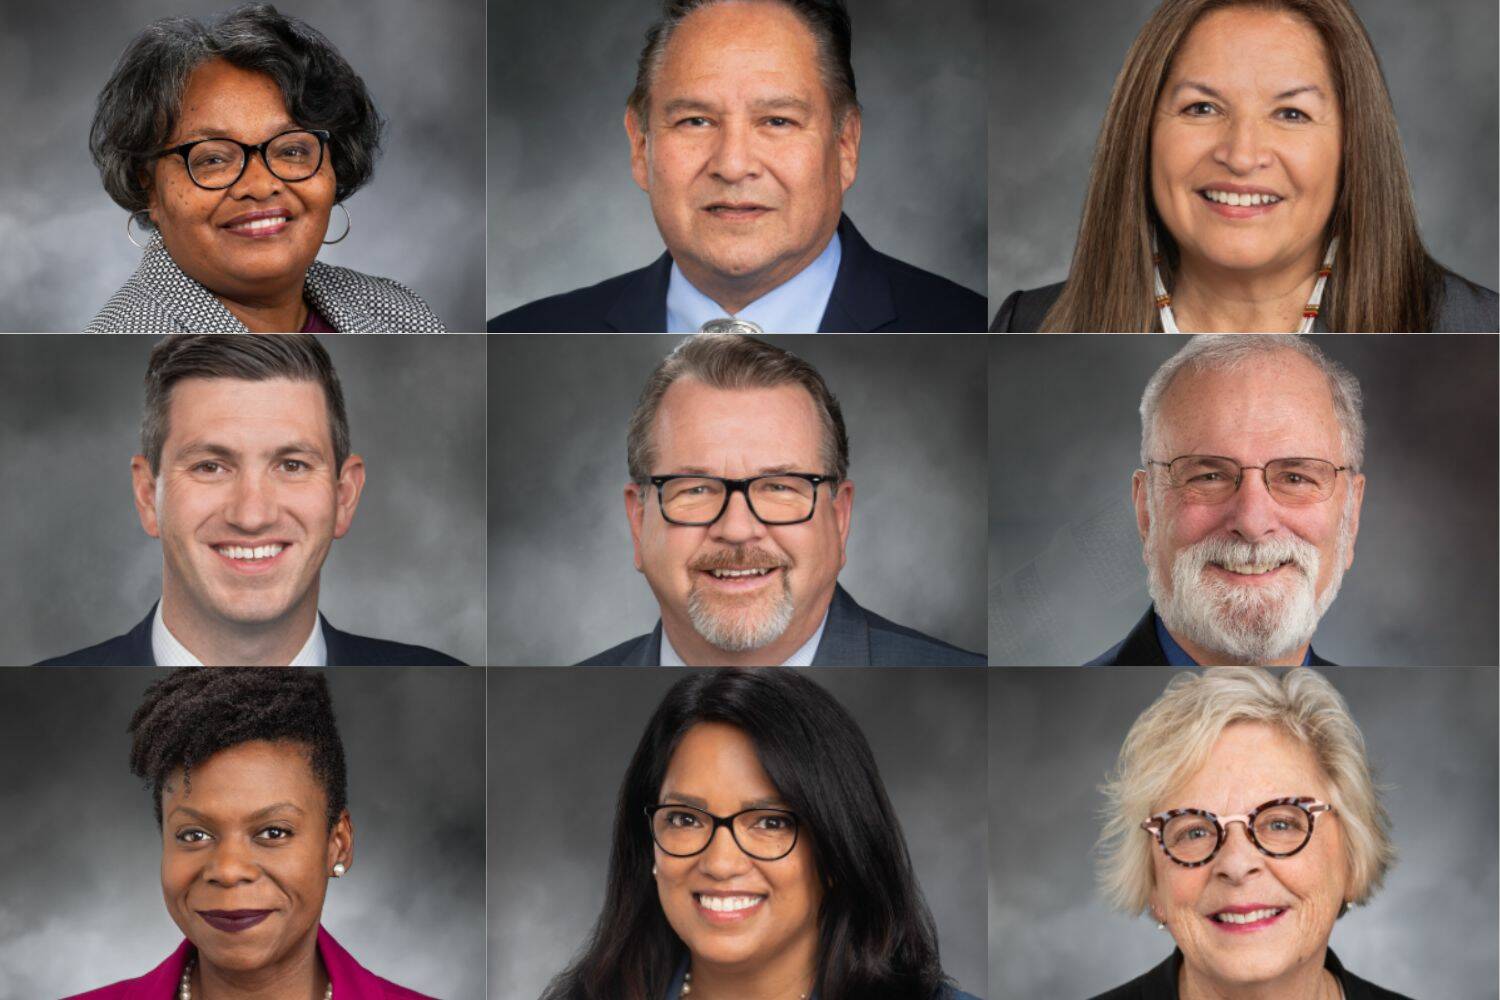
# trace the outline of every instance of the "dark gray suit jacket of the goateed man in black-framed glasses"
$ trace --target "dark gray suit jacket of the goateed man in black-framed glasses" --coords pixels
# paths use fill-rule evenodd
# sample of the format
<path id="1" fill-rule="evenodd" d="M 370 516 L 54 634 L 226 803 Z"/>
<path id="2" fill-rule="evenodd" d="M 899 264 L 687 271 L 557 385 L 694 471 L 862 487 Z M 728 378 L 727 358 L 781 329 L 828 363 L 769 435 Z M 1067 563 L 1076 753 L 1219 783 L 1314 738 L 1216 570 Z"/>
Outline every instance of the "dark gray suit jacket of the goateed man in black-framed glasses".
<path id="1" fill-rule="evenodd" d="M 580 667 L 656 667 L 662 664 L 662 622 Z M 897 625 L 860 607 L 849 592 L 834 586 L 828 624 L 813 655 L 814 667 L 982 667 L 984 657 Z"/>

